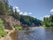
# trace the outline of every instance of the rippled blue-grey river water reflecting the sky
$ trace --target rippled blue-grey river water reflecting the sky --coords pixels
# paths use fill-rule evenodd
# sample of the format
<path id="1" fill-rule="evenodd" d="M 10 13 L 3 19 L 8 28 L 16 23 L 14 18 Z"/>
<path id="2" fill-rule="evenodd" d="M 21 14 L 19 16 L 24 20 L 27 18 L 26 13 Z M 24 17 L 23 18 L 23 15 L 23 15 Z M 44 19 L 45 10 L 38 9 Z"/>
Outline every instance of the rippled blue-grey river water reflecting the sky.
<path id="1" fill-rule="evenodd" d="M 32 28 L 33 29 L 33 28 Z M 16 40 L 53 40 L 53 28 L 34 28 L 16 32 Z"/>

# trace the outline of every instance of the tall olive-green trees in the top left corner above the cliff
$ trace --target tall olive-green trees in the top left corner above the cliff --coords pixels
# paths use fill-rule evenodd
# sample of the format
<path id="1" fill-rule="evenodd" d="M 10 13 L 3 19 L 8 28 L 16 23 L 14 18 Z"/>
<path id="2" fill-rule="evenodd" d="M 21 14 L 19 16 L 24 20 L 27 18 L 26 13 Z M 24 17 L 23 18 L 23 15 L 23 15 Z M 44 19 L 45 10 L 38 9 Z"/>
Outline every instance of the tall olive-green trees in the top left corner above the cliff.
<path id="1" fill-rule="evenodd" d="M 8 2 L 4 0 L 4 2 L 0 1 L 0 14 L 8 15 Z"/>

